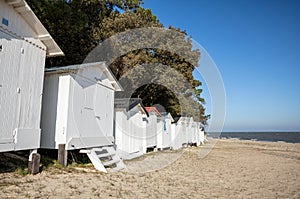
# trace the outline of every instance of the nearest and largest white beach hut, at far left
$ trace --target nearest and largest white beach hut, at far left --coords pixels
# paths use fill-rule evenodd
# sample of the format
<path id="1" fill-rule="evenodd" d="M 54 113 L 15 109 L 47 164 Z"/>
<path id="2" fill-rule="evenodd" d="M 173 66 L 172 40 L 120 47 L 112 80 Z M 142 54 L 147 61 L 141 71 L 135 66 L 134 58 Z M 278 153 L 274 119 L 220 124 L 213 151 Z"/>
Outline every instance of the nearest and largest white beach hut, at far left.
<path id="1" fill-rule="evenodd" d="M 40 147 L 45 59 L 60 55 L 26 1 L 0 0 L 0 152 Z"/>

